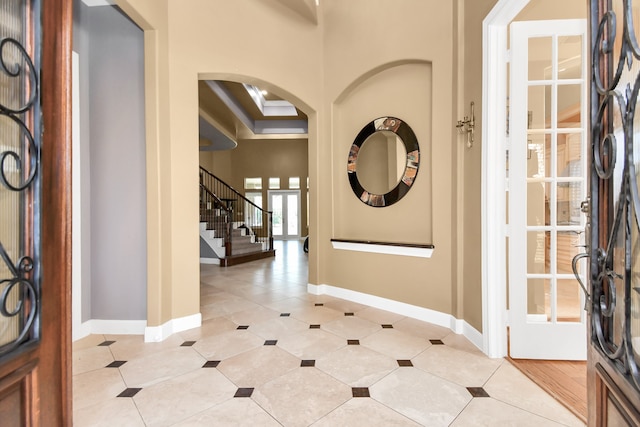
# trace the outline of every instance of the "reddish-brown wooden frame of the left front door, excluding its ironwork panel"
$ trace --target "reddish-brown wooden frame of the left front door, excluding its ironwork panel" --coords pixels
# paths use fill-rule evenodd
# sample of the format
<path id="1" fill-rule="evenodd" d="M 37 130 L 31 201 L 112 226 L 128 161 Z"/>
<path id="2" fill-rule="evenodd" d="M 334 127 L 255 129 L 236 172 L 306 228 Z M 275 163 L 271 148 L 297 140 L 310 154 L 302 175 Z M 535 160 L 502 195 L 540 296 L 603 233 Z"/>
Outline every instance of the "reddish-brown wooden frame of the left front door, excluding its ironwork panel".
<path id="1" fill-rule="evenodd" d="M 71 46 L 73 2 L 42 2 L 40 97 L 40 343 L 3 361 L 0 379 L 22 390 L 26 426 L 70 426 L 71 393 Z"/>

